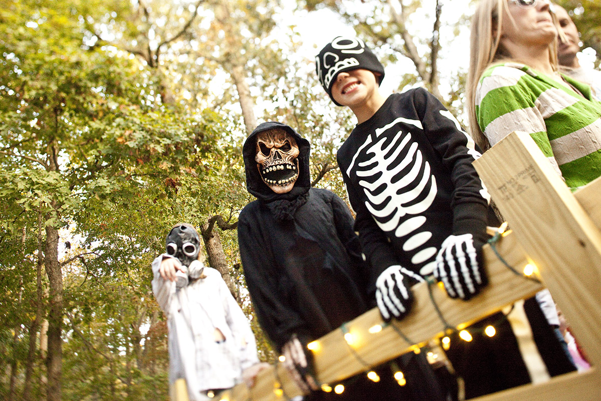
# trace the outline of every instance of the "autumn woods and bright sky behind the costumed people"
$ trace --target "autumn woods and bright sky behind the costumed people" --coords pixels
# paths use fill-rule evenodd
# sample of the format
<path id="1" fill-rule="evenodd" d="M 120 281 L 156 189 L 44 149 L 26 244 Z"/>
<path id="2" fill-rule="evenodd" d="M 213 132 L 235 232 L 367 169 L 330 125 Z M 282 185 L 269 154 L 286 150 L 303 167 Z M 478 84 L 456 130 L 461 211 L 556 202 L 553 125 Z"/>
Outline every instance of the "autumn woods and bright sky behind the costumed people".
<path id="1" fill-rule="evenodd" d="M 599 67 L 601 4 L 558 1 Z M 465 121 L 469 0 L 1 0 L 0 398 L 167 400 L 150 262 L 199 228 L 273 362 L 236 239 L 242 144 L 278 120 L 311 142 L 313 185 L 345 197 L 355 118 L 313 57 L 338 34 L 376 49 L 388 91 L 424 86 Z M 460 50 L 457 50 L 460 49 Z"/>

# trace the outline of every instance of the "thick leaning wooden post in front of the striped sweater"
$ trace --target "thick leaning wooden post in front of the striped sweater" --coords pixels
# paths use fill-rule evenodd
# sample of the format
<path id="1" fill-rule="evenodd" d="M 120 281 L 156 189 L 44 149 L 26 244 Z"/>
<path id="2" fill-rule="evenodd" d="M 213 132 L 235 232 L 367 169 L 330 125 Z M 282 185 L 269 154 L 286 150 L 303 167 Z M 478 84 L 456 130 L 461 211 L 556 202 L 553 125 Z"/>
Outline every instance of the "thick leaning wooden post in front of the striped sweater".
<path id="1" fill-rule="evenodd" d="M 511 133 L 474 166 L 591 363 L 601 366 L 599 229 L 529 135 Z"/>

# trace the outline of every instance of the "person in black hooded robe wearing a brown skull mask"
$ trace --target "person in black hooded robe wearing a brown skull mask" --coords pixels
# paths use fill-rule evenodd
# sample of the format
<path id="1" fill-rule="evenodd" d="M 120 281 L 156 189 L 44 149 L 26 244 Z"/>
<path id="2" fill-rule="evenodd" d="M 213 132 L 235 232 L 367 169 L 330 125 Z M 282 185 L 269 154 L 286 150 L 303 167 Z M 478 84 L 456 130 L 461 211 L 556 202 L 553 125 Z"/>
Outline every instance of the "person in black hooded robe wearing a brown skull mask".
<path id="1" fill-rule="evenodd" d="M 311 188 L 310 145 L 291 127 L 260 124 L 243 147 L 246 188 L 257 197 L 242 210 L 238 240 L 258 321 L 305 393 L 319 390 L 307 343 L 375 306 L 347 205 Z M 358 375 L 343 394 L 313 391 L 306 400 L 443 400 L 424 355 L 398 358 L 407 385 L 390 368 L 374 383 Z"/>

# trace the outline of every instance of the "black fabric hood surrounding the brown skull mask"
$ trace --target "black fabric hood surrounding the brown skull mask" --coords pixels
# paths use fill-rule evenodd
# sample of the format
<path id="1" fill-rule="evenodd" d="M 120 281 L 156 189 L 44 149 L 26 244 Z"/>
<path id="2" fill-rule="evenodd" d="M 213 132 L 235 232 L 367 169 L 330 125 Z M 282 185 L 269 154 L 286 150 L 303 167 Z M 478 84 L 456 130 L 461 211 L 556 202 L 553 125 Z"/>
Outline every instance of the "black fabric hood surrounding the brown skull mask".
<path id="1" fill-rule="evenodd" d="M 257 154 L 257 139 L 258 133 L 268 129 L 279 128 L 290 135 L 294 136 L 296 143 L 299 146 L 299 177 L 294 183 L 294 188 L 290 192 L 285 194 L 276 194 L 273 192 L 266 183 L 263 182 L 259 171 L 257 169 L 257 162 L 255 162 L 255 156 Z M 269 121 L 268 123 L 261 123 L 252 131 L 251 135 L 246 138 L 244 146 L 242 147 L 242 156 L 244 158 L 244 166 L 246 171 L 246 189 L 252 195 L 255 195 L 259 200 L 270 202 L 274 200 L 292 200 L 299 195 L 305 194 L 311 188 L 311 177 L 309 174 L 309 152 L 310 145 L 307 139 L 302 138 L 293 128 L 286 124 L 278 123 L 276 121 Z"/>

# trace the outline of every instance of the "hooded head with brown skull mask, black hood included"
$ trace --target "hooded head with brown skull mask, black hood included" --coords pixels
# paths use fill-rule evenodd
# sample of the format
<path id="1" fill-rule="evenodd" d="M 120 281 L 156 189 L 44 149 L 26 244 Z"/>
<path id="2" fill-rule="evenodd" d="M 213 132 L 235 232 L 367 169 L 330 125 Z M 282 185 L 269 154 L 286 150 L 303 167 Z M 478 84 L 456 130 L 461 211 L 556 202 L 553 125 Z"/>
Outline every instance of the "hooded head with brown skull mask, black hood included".
<path id="1" fill-rule="evenodd" d="M 311 187 L 310 146 L 291 127 L 261 123 L 246 138 L 242 154 L 246 189 L 262 201 L 293 200 Z"/>

